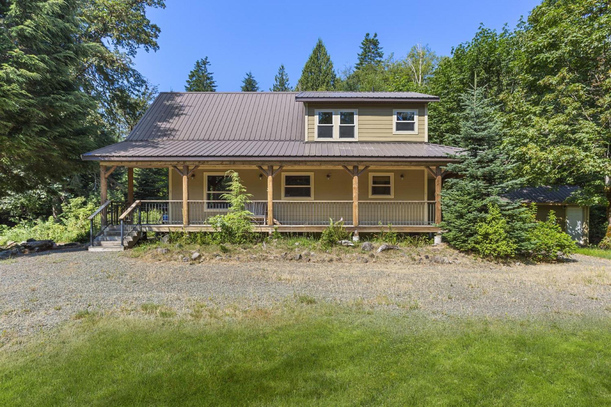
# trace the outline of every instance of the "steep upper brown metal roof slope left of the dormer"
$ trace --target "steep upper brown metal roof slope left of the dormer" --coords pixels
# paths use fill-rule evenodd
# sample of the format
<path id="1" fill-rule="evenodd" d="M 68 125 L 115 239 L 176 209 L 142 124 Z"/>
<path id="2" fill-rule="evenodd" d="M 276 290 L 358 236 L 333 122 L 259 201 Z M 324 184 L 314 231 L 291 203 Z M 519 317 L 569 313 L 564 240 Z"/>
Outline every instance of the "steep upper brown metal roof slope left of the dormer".
<path id="1" fill-rule="evenodd" d="M 303 140 L 295 92 L 162 92 L 126 141 Z"/>

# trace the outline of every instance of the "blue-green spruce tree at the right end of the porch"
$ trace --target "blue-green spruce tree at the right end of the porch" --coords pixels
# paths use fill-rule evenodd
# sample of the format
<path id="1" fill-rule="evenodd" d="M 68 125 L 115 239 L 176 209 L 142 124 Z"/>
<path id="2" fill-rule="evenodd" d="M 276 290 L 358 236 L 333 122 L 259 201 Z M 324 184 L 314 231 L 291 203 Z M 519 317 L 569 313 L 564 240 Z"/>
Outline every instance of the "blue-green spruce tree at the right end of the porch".
<path id="1" fill-rule="evenodd" d="M 444 185 L 444 237 L 455 248 L 476 249 L 478 224 L 486 221 L 489 205 L 498 206 L 500 215 L 507 219 L 508 238 L 518 244 L 518 251 L 528 251 L 531 243 L 527 239 L 527 208 L 500 199 L 500 194 L 518 188 L 522 180 L 511 177 L 513 164 L 503 151 L 503 128 L 491 100 L 484 97 L 482 88 L 474 87 L 461 95 L 461 101 L 461 133 L 455 139 L 464 151 L 452 155 L 458 162 L 447 166 L 459 177 Z"/>

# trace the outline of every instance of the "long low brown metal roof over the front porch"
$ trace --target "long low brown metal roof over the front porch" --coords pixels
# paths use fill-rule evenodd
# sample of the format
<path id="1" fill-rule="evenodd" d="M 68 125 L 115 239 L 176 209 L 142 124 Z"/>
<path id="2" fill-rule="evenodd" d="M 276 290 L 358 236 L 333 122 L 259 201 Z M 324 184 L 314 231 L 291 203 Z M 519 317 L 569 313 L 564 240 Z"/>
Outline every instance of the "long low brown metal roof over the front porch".
<path id="1" fill-rule="evenodd" d="M 84 160 L 214 160 L 248 158 L 444 158 L 459 149 L 419 142 L 305 142 L 275 140 L 123 141 L 82 155 Z"/>

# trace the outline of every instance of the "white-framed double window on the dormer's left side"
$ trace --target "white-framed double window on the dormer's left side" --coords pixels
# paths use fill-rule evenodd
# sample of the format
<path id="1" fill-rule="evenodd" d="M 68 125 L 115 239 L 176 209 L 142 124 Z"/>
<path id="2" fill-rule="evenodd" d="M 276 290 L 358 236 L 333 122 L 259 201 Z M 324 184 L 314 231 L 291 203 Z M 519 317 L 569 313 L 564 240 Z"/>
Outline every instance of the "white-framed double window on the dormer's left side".
<path id="1" fill-rule="evenodd" d="M 357 109 L 316 110 L 316 141 L 356 141 L 358 116 Z"/>

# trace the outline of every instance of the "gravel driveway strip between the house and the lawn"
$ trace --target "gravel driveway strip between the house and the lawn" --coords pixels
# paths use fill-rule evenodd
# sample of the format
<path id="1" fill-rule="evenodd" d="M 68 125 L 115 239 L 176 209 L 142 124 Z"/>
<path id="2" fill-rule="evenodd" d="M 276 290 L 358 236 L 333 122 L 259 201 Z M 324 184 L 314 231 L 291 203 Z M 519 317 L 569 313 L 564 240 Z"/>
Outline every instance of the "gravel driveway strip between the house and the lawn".
<path id="1" fill-rule="evenodd" d="M 611 261 L 559 265 L 147 262 L 117 252 L 48 252 L 0 262 L 0 336 L 48 329 L 78 312 L 163 304 L 267 307 L 299 295 L 431 315 L 611 315 Z"/>

